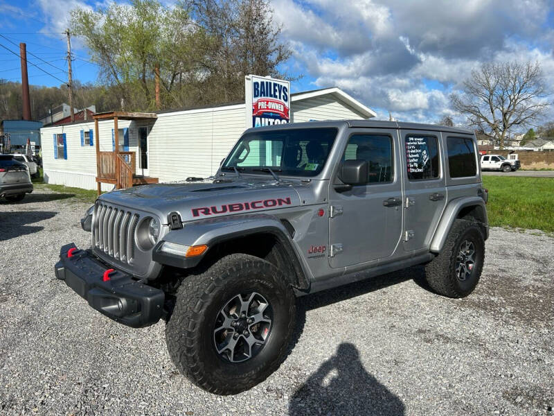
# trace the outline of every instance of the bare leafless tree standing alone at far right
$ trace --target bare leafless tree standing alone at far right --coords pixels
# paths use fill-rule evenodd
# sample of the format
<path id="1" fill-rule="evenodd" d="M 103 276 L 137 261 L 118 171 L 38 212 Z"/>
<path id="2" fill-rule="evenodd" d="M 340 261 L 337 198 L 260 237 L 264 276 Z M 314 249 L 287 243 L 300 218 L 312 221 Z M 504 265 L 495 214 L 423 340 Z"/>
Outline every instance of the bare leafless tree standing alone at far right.
<path id="1" fill-rule="evenodd" d="M 550 103 L 538 63 L 485 63 L 450 97 L 470 125 L 494 137 L 500 148 L 512 128 L 537 121 Z"/>

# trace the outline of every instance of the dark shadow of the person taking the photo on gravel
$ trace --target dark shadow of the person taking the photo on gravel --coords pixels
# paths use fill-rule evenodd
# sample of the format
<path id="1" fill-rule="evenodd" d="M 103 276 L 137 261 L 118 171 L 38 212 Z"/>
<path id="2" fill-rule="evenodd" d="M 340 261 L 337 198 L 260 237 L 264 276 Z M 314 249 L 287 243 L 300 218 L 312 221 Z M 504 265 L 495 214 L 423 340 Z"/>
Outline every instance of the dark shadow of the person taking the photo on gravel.
<path id="1" fill-rule="evenodd" d="M 289 401 L 289 415 L 404 415 L 402 400 L 366 372 L 355 345 L 342 343 Z"/>

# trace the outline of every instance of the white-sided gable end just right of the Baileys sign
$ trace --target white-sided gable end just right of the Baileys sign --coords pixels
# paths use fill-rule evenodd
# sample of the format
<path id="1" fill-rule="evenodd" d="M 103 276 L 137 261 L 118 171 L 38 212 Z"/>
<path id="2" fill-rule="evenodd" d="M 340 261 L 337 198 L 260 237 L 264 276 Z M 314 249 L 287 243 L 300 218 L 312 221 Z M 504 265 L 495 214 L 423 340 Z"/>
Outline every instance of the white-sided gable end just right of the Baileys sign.
<path id="1" fill-rule="evenodd" d="M 365 119 L 364 116 L 361 116 L 359 112 L 349 105 L 329 96 L 293 101 L 291 107 L 292 121 L 294 123 L 301 123 L 303 121 Z"/>

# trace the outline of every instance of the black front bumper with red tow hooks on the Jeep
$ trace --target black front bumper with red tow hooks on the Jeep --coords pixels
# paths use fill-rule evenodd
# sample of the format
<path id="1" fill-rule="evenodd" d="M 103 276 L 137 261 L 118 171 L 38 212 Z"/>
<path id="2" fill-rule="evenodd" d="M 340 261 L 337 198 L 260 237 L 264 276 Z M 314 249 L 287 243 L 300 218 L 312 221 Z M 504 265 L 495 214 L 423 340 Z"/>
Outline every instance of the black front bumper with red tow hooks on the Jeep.
<path id="1" fill-rule="evenodd" d="M 55 266 L 57 279 L 89 302 L 96 311 L 129 327 L 148 327 L 163 314 L 163 291 L 152 288 L 115 270 L 109 280 L 103 276 L 110 267 L 93 257 L 88 250 L 73 250 L 75 244 L 66 244 L 60 250 L 60 261 Z"/>

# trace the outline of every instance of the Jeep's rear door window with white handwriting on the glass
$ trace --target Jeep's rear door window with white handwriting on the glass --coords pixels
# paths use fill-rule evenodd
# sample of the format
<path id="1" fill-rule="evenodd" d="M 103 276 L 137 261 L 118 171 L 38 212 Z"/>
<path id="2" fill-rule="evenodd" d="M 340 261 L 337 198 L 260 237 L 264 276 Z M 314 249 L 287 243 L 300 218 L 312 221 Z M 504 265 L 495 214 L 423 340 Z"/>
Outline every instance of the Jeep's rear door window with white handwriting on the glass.
<path id="1" fill-rule="evenodd" d="M 436 137 L 406 136 L 406 169 L 409 180 L 435 179 L 440 175 Z"/>

